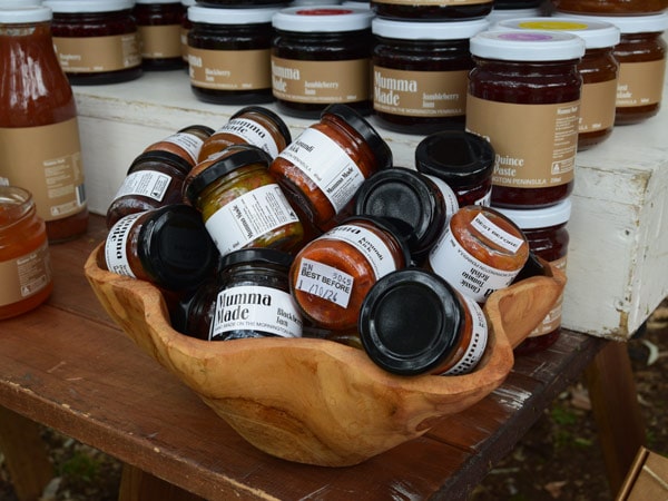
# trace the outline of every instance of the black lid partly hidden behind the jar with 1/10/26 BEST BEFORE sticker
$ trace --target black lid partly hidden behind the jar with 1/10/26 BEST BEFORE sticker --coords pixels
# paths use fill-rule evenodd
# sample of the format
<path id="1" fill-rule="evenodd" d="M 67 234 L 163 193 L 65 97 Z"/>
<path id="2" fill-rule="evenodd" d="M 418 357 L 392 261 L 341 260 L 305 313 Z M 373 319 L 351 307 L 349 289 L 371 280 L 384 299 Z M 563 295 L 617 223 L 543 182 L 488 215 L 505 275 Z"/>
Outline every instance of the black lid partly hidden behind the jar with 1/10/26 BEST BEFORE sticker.
<path id="1" fill-rule="evenodd" d="M 392 167 L 364 180 L 355 194 L 354 214 L 389 218 L 406 234 L 411 254 L 422 258 L 441 234 L 446 208 L 439 188 L 416 170 Z"/>

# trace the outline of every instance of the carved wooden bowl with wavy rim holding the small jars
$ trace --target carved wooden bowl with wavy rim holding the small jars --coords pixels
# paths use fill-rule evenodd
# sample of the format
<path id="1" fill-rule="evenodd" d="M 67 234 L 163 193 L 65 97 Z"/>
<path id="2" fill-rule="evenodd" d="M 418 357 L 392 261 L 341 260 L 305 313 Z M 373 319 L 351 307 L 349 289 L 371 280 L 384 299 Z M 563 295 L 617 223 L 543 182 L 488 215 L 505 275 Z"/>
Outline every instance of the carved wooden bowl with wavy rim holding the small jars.
<path id="1" fill-rule="evenodd" d="M 357 464 L 425 433 L 498 387 L 512 347 L 547 315 L 566 284 L 562 272 L 531 277 L 490 296 L 490 341 L 474 372 L 397 376 L 364 351 L 316 338 L 207 342 L 169 325 L 160 291 L 106 272 L 96 248 L 86 276 L 105 310 L 137 345 L 195 391 L 256 448 L 291 461 Z"/>

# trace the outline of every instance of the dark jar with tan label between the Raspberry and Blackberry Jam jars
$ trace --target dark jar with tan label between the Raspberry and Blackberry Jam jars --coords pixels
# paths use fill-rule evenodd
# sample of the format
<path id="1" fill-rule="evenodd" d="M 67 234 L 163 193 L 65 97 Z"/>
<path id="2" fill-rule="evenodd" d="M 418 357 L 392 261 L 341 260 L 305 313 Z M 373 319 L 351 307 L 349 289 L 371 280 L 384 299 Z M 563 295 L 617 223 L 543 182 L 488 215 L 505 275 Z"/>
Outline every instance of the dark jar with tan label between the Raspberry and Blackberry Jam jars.
<path id="1" fill-rule="evenodd" d="M 186 8 L 180 0 L 135 0 L 132 13 L 141 42 L 141 67 L 149 71 L 185 66 L 180 30 Z"/>

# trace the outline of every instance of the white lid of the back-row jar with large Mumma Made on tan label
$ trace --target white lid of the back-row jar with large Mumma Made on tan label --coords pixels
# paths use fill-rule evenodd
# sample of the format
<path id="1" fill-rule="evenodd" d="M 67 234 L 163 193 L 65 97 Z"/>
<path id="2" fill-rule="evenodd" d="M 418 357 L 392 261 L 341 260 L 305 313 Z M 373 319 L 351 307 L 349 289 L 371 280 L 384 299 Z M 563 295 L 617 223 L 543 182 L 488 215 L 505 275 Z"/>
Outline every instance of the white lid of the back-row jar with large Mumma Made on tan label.
<path id="1" fill-rule="evenodd" d="M 410 22 L 374 18 L 371 30 L 374 35 L 400 40 L 465 40 L 490 26 L 487 19 L 448 22 Z"/>

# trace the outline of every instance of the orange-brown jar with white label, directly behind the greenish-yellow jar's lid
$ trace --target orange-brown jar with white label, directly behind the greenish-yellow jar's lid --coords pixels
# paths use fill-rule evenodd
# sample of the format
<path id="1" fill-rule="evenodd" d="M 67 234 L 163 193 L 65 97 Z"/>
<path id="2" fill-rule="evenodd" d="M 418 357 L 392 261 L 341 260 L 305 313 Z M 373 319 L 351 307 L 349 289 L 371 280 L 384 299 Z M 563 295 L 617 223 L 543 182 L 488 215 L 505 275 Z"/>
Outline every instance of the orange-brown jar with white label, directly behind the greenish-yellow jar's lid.
<path id="1" fill-rule="evenodd" d="M 202 145 L 199 161 L 228 146 L 248 144 L 263 149 L 272 158 L 292 141 L 289 128 L 277 114 L 261 106 L 246 106 L 212 134 Z"/>

